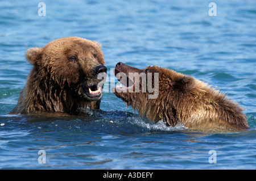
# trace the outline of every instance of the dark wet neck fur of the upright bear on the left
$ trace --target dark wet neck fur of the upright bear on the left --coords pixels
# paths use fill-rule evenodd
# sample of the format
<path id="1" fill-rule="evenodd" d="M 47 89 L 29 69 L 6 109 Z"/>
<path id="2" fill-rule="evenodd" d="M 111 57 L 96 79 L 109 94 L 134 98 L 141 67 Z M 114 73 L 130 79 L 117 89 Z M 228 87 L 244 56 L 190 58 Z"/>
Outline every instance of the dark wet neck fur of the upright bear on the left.
<path id="1" fill-rule="evenodd" d="M 27 112 L 47 111 L 75 113 L 79 107 L 88 107 L 90 102 L 84 102 L 80 96 L 71 89 L 67 81 L 55 81 L 46 70 L 41 70 L 40 77 L 33 75 L 32 71 L 27 82 L 27 97 L 30 99 Z M 42 76 L 43 75 L 43 76 Z M 76 100 L 76 101 L 74 101 Z M 77 100 L 81 100 L 77 102 Z"/>

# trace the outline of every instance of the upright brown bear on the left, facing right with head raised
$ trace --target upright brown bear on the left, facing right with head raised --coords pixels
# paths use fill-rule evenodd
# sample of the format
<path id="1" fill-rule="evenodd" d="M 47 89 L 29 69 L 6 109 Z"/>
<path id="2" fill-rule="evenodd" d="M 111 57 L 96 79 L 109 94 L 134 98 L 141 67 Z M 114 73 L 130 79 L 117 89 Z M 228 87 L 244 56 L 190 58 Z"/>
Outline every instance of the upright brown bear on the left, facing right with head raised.
<path id="1" fill-rule="evenodd" d="M 100 108 L 103 83 L 98 75 L 107 70 L 100 43 L 65 37 L 28 49 L 26 58 L 34 66 L 9 114 L 75 114 L 78 108 Z"/>

